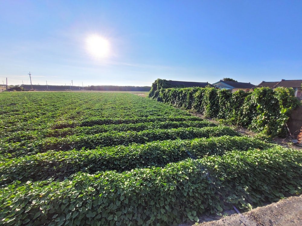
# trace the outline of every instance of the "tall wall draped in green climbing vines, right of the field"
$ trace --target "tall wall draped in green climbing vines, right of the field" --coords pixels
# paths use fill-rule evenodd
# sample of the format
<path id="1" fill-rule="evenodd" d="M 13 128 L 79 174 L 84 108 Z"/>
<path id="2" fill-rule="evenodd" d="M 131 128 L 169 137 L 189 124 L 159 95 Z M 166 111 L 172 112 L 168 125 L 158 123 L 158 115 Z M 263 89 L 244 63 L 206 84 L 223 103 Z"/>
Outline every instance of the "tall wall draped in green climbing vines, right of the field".
<path id="1" fill-rule="evenodd" d="M 251 93 L 242 90 L 230 93 L 227 89 L 210 87 L 168 88 L 153 90 L 149 97 L 247 127 L 267 137 L 284 134 L 290 111 L 300 105 L 294 90 L 284 87 L 256 88 Z"/>

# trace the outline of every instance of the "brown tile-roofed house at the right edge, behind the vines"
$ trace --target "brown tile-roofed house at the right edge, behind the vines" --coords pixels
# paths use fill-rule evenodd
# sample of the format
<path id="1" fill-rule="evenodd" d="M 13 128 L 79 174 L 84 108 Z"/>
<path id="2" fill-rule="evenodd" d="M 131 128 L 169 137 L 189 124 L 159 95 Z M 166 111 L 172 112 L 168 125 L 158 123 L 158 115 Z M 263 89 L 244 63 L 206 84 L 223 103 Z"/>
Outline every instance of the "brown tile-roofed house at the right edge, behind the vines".
<path id="1" fill-rule="evenodd" d="M 295 96 L 296 97 L 302 97 L 302 80 L 285 80 L 282 79 L 280 82 L 265 82 L 262 81 L 258 87 L 269 87 L 271 89 L 274 89 L 276 87 L 287 87 L 287 88 L 293 88 L 295 90 Z"/>

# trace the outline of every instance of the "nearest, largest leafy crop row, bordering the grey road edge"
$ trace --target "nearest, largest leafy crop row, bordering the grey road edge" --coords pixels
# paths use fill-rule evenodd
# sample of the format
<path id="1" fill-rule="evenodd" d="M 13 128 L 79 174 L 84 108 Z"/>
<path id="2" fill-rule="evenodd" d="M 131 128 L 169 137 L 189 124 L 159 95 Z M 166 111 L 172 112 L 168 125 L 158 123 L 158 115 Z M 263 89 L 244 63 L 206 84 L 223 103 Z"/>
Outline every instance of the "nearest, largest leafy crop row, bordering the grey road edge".
<path id="1" fill-rule="evenodd" d="M 302 156 L 274 147 L 186 159 L 163 168 L 16 181 L 0 191 L 2 225 L 172 225 L 201 213 L 301 192 Z"/>

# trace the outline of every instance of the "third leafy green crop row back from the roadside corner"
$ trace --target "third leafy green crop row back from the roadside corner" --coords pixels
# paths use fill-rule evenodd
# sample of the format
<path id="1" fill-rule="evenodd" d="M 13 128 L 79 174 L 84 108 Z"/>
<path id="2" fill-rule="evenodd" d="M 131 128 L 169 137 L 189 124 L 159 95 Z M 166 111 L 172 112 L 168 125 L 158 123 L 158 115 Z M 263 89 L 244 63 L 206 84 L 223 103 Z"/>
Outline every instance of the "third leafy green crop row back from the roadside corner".
<path id="1" fill-rule="evenodd" d="M 42 140 L 28 143 L 28 141 L 20 143 L 1 143 L 0 151 L 2 159 L 5 157 L 17 157 L 23 155 L 33 155 L 38 152 L 46 152 L 48 150 L 67 151 L 71 149 L 94 149 L 97 146 L 116 146 L 128 145 L 130 143 L 146 143 L 155 140 L 176 140 L 176 139 L 194 139 L 200 137 L 211 136 L 239 136 L 239 134 L 226 126 L 203 127 L 203 128 L 177 128 L 177 129 L 153 129 L 143 130 L 139 132 L 107 132 L 84 136 L 69 137 L 49 137 Z"/>

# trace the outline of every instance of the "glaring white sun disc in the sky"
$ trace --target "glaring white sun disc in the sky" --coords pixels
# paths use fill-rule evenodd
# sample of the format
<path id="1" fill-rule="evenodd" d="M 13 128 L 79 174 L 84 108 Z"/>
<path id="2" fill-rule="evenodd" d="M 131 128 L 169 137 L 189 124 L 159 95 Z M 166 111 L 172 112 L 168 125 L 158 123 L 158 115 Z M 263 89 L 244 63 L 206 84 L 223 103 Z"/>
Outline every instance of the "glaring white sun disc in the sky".
<path id="1" fill-rule="evenodd" d="M 88 52 L 96 58 L 106 58 L 110 53 L 109 41 L 99 35 L 91 35 L 86 39 Z"/>

